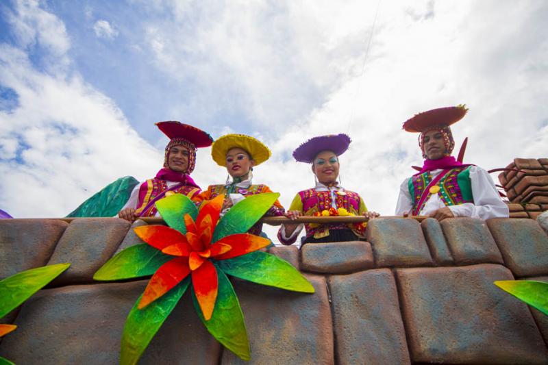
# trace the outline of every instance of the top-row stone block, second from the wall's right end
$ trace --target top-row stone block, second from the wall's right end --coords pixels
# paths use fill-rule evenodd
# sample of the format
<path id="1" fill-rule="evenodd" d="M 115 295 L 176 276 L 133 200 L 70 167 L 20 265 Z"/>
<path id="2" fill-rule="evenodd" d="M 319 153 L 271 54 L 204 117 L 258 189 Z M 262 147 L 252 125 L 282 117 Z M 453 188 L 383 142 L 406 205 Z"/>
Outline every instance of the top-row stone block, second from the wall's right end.
<path id="1" fill-rule="evenodd" d="M 476 218 L 447 218 L 441 221 L 441 227 L 457 264 L 503 264 L 501 253 L 485 221 Z"/>

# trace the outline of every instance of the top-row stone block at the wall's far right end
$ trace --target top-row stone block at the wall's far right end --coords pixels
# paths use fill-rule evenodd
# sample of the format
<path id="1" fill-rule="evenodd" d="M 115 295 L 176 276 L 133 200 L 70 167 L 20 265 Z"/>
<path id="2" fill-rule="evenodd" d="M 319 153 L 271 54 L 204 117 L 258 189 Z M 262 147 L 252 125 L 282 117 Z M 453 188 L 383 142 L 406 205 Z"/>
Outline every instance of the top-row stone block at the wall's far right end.
<path id="1" fill-rule="evenodd" d="M 514 275 L 548 275 L 548 236 L 536 221 L 495 218 L 487 225 Z"/>

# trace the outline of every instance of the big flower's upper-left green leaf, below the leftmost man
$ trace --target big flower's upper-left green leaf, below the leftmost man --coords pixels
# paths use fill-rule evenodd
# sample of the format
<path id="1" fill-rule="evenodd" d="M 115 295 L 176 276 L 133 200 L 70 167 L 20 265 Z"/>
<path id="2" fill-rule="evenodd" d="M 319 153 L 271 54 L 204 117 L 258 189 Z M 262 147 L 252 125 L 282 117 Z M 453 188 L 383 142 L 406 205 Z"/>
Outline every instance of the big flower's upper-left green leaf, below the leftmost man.
<path id="1" fill-rule="evenodd" d="M 173 229 L 177 229 L 182 234 L 186 234 L 184 215 L 190 214 L 195 221 L 198 216 L 196 205 L 183 194 L 173 194 L 170 197 L 158 200 L 154 204 L 167 225 Z"/>

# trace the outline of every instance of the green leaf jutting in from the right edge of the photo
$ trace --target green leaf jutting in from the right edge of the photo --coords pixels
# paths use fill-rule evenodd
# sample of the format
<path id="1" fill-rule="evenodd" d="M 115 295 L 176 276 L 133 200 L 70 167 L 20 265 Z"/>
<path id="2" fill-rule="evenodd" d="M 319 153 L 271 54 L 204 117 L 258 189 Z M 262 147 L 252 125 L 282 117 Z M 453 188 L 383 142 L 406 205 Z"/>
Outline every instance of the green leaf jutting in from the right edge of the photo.
<path id="1" fill-rule="evenodd" d="M 548 316 L 548 283 L 532 280 L 499 280 L 495 285 Z"/>

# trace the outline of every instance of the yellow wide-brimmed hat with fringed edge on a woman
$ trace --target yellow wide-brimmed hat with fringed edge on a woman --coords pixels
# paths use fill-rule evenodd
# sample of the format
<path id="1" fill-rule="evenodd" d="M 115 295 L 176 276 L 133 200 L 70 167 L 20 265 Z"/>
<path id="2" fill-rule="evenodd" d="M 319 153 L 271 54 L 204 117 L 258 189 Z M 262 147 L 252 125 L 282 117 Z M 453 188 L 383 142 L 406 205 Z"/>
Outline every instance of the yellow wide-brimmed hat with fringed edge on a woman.
<path id="1" fill-rule="evenodd" d="M 271 152 L 260 140 L 245 134 L 225 134 L 219 137 L 211 147 L 211 157 L 219 166 L 226 166 L 227 153 L 230 149 L 240 148 L 255 161 L 255 166 L 270 158 Z"/>

